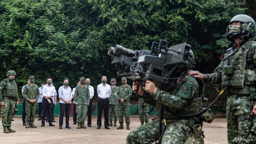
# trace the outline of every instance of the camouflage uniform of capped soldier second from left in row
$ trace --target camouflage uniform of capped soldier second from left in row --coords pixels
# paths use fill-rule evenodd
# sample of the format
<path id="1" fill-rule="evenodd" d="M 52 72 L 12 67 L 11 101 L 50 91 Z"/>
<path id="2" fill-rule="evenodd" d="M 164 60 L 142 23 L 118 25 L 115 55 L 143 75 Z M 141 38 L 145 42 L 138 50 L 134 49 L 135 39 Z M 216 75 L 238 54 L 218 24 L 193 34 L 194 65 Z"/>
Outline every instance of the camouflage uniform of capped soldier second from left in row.
<path id="1" fill-rule="evenodd" d="M 23 95 L 26 99 L 26 121 L 34 122 L 35 121 L 35 110 L 36 110 L 36 102 L 29 102 L 30 99 L 37 100 L 39 98 L 39 89 L 36 84 L 31 86 L 30 84 L 25 85 L 23 89 Z"/>

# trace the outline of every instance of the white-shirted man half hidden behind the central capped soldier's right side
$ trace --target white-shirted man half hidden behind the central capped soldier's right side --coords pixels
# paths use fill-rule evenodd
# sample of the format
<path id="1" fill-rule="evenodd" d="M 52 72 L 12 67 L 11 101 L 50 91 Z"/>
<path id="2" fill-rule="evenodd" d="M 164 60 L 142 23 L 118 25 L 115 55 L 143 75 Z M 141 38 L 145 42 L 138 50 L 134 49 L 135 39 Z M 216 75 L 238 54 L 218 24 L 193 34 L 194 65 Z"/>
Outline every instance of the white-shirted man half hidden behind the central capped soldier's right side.
<path id="1" fill-rule="evenodd" d="M 94 96 L 94 88 L 93 86 L 90 85 L 91 80 L 90 78 L 86 78 L 85 79 L 85 84 L 86 86 L 89 88 L 89 93 L 90 93 L 90 104 L 88 107 L 88 111 L 87 111 L 87 125 L 88 127 L 92 127 L 92 104 L 93 104 L 93 96 Z"/>

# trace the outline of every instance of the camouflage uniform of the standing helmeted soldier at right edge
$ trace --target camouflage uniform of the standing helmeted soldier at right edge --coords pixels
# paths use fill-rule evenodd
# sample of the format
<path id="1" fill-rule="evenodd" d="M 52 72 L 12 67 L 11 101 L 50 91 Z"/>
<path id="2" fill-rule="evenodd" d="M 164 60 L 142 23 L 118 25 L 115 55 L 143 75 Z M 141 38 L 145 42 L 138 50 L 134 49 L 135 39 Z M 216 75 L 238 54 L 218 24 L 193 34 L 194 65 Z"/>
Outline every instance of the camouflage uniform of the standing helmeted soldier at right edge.
<path id="1" fill-rule="evenodd" d="M 237 45 L 226 50 L 226 54 L 233 53 Z M 227 67 L 233 67 L 233 73 L 227 74 Z M 227 97 L 227 128 L 229 143 L 236 143 L 233 139 L 256 139 L 256 122 L 252 108 L 256 102 L 255 75 L 256 43 L 245 40 L 240 43 L 238 51 L 225 61 L 222 61 L 212 74 L 204 74 L 205 83 L 221 83 Z M 255 123 L 256 124 L 256 123 Z M 239 143 L 243 143 L 239 141 Z"/>

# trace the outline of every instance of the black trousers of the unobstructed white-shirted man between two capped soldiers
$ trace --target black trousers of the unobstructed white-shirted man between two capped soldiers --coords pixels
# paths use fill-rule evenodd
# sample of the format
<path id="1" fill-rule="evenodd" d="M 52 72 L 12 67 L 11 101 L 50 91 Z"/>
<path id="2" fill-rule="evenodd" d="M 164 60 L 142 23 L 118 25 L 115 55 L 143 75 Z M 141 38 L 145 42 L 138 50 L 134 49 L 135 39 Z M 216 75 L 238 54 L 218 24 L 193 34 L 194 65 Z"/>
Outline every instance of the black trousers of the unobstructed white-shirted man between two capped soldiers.
<path id="1" fill-rule="evenodd" d="M 97 126 L 101 126 L 102 109 L 104 112 L 104 126 L 109 126 L 109 98 L 98 98 L 98 118 Z"/>

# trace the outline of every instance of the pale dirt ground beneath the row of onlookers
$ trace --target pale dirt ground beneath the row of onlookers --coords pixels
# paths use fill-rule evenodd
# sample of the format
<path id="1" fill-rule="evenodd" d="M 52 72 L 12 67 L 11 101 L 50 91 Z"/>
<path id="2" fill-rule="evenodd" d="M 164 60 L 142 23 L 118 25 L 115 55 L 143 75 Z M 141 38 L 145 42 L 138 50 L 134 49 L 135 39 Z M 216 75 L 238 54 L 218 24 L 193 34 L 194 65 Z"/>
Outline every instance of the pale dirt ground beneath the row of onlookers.
<path id="1" fill-rule="evenodd" d="M 38 119 L 37 117 L 35 118 Z M 152 118 L 150 118 L 152 119 Z M 14 117 L 12 122 L 12 129 L 16 130 L 15 133 L 4 134 L 2 133 L 3 127 L 0 127 L 0 143 L 126 143 L 126 136 L 131 131 L 140 126 L 138 117 L 130 117 L 131 130 L 117 130 L 116 127 L 110 127 L 110 130 L 104 129 L 104 124 L 101 129 L 96 129 L 97 117 L 92 118 L 92 127 L 86 129 L 76 129 L 77 125 L 72 124 L 72 117 L 70 117 L 71 129 L 66 129 L 65 124 L 63 129 L 59 129 L 59 118 L 55 117 L 56 122 L 53 122 L 55 126 L 49 127 L 45 123 L 44 127 L 41 127 L 41 121 L 35 121 L 37 128 L 25 128 L 22 125 L 21 117 Z M 64 120 L 65 122 L 65 120 Z M 104 123 L 104 117 L 102 118 Z M 124 124 L 126 127 L 126 124 Z M 227 143 L 227 127 L 225 117 L 215 118 L 211 124 L 204 123 L 204 143 L 205 144 L 219 144 Z"/>

